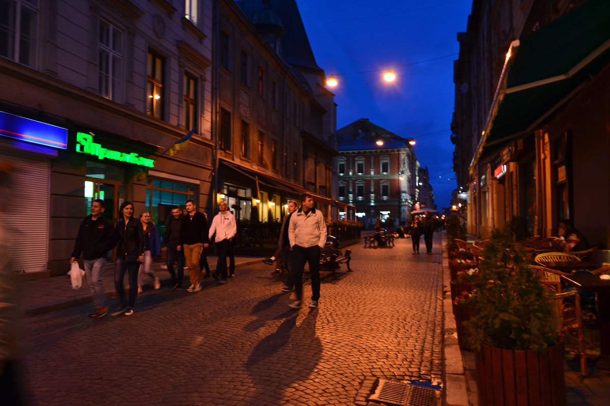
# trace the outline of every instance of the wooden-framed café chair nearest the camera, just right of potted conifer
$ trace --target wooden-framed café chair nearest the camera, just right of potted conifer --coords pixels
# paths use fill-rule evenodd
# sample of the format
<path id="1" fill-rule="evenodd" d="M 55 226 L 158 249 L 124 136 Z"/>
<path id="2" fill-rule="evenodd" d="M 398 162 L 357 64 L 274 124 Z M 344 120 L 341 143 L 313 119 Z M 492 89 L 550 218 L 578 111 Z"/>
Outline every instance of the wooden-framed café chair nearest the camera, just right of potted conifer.
<path id="1" fill-rule="evenodd" d="M 587 376 L 587 353 L 585 351 L 583 332 L 583 312 L 580 307 L 580 295 L 578 292 L 564 292 L 549 295 L 556 306 L 562 326 L 559 335 L 564 343 L 572 348 L 572 351 L 580 357 L 580 373 Z M 574 336 L 578 344 L 574 343 Z"/>

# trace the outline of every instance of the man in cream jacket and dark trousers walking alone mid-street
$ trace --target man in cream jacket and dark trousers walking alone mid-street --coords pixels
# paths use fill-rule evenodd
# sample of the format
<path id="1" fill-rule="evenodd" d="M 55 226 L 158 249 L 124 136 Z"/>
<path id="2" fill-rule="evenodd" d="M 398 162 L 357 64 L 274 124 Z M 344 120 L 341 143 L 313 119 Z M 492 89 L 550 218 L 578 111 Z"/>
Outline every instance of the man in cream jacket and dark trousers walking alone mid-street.
<path id="1" fill-rule="evenodd" d="M 326 220 L 321 211 L 314 207 L 314 197 L 309 193 L 301 195 L 301 208 L 290 217 L 288 238 L 293 254 L 293 275 L 296 301 L 289 306 L 301 307 L 303 297 L 303 271 L 309 264 L 311 278 L 311 302 L 309 307 L 318 307 L 320 300 L 320 254 L 326 243 Z"/>

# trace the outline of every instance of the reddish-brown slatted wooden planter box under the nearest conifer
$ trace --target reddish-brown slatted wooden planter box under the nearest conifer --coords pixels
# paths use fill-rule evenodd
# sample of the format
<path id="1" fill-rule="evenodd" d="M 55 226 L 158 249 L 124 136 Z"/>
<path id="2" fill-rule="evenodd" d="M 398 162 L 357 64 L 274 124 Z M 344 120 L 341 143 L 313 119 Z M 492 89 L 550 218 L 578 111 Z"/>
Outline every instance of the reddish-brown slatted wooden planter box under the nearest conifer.
<path id="1" fill-rule="evenodd" d="M 479 406 L 565 406 L 563 343 L 545 352 L 483 346 L 476 354 Z"/>

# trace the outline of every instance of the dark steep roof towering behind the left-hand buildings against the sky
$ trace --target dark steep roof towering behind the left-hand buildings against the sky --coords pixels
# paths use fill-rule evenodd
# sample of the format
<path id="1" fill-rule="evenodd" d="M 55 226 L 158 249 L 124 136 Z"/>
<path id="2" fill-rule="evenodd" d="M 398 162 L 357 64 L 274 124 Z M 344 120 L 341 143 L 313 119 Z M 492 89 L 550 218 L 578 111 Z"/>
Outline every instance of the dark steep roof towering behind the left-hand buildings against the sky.
<path id="1" fill-rule="evenodd" d="M 264 10 L 263 2 L 260 0 L 237 0 L 235 4 L 239 5 L 250 21 L 253 21 L 254 17 Z M 286 29 L 286 33 L 282 37 L 282 58 L 290 65 L 323 74 L 324 71 L 315 61 L 296 1 L 270 0 L 269 10 L 277 13 L 282 26 Z"/>

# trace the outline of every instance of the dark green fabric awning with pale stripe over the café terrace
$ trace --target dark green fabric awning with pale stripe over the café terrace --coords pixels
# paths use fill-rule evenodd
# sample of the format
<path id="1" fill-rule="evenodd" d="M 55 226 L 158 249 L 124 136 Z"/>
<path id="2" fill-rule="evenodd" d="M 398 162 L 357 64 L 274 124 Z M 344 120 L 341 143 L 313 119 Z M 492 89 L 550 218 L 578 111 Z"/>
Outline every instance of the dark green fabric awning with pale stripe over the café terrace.
<path id="1" fill-rule="evenodd" d="M 471 169 L 533 133 L 608 65 L 610 1 L 590 0 L 515 43 Z"/>

